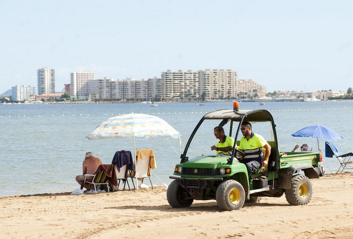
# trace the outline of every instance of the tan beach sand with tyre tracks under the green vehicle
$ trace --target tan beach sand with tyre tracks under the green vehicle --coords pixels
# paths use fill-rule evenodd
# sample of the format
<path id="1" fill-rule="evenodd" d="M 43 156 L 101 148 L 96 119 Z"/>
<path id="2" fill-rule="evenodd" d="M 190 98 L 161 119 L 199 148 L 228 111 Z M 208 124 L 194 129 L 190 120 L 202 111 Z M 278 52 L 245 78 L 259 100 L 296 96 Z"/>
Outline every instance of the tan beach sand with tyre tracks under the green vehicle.
<path id="1" fill-rule="evenodd" d="M 312 201 L 262 198 L 238 211 L 216 201 L 171 208 L 152 190 L 0 198 L 2 238 L 353 238 L 353 173 L 312 180 Z"/>

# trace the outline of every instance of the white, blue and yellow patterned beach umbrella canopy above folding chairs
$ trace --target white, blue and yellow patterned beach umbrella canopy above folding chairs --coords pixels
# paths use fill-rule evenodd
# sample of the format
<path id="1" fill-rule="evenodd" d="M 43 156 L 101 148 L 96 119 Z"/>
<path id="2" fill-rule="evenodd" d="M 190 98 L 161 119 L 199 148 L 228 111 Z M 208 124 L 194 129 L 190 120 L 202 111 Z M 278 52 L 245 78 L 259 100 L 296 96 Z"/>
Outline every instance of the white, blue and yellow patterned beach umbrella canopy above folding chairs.
<path id="1" fill-rule="evenodd" d="M 153 140 L 164 136 L 178 139 L 180 133 L 157 116 L 130 113 L 108 118 L 86 138 L 89 140 L 108 138 Z"/>

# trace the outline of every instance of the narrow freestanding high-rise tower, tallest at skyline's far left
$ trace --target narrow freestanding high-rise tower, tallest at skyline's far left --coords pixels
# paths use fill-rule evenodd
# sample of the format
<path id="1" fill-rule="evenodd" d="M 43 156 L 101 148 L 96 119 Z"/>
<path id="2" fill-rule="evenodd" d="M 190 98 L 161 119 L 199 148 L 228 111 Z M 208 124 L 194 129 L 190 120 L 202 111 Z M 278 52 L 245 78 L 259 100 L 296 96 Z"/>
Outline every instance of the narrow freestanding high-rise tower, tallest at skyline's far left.
<path id="1" fill-rule="evenodd" d="M 55 93 L 55 70 L 43 67 L 37 70 L 38 94 Z"/>

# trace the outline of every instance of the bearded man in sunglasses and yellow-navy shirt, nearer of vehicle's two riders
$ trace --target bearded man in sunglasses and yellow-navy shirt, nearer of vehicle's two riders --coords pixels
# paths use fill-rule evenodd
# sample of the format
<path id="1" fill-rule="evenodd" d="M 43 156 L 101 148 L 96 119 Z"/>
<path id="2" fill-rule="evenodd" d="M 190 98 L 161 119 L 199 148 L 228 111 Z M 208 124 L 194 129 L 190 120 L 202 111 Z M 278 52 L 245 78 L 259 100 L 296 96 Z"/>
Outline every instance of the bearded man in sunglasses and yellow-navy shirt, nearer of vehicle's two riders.
<path id="1" fill-rule="evenodd" d="M 244 137 L 240 140 L 239 149 L 244 152 L 245 157 L 240 162 L 245 164 L 250 177 L 261 166 L 267 166 L 268 157 L 271 154 L 271 146 L 261 135 L 252 132 L 252 126 L 249 122 L 243 122 L 241 127 Z M 266 150 L 265 158 L 263 158 L 263 148 Z"/>

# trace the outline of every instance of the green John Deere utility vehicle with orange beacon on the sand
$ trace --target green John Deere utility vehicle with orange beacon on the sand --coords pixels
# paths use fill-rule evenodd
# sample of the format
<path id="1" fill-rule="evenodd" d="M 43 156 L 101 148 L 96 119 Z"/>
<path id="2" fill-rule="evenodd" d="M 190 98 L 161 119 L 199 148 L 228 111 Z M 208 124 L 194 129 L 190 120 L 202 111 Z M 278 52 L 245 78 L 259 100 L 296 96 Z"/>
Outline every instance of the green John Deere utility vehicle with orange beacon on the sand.
<path id="1" fill-rule="evenodd" d="M 244 156 L 237 148 L 243 137 L 240 130 L 243 121 L 252 123 L 253 132 L 264 136 L 271 146 L 268 166 L 250 176 L 245 164 L 241 163 L 242 157 L 238 156 Z M 201 127 L 204 124 L 206 128 Z M 229 132 L 227 135 L 234 138 L 233 149 L 228 155 L 211 155 L 215 154 L 209 149 L 211 145 L 200 152 L 215 126 L 222 126 L 225 133 Z M 234 136 L 233 131 L 236 131 Z M 201 140 L 194 139 L 198 132 Z M 215 141 L 214 138 L 212 140 Z M 193 151 L 196 151 L 195 157 L 189 159 Z M 203 155 L 205 153 L 210 155 Z M 216 200 L 221 210 L 230 211 L 239 210 L 245 202 L 259 202 L 261 197 L 285 194 L 289 204 L 305 205 L 313 193 L 309 178 L 324 175 L 320 153 L 279 152 L 276 125 L 268 110 L 240 110 L 239 103 L 234 102 L 233 110 L 216 110 L 201 118 L 186 144 L 181 162 L 169 177 L 173 181 L 167 190 L 167 200 L 173 208 L 190 207 L 194 200 Z"/>

